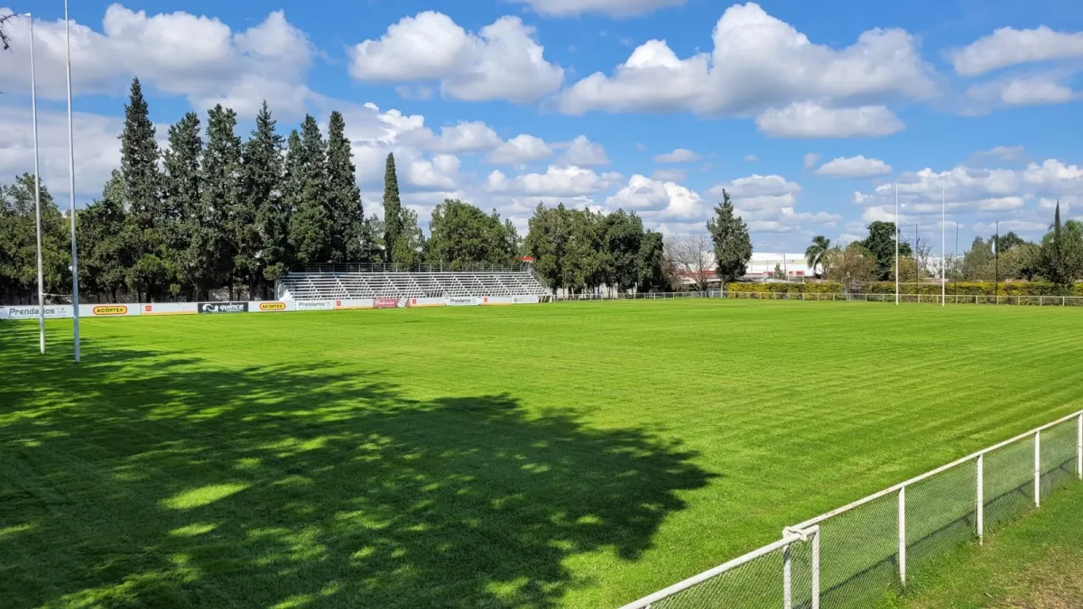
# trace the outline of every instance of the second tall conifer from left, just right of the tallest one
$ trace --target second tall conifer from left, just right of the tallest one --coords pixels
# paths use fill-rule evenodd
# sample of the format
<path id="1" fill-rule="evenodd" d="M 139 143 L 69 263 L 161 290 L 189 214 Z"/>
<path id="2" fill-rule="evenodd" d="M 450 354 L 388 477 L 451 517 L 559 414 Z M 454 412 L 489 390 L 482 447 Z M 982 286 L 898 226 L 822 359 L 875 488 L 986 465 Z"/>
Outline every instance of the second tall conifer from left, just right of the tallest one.
<path id="1" fill-rule="evenodd" d="M 195 281 L 186 264 L 185 252 L 192 243 L 192 222 L 200 209 L 199 161 L 203 140 L 199 137 L 199 116 L 187 113 L 169 128 L 169 150 L 165 153 L 162 209 L 165 225 L 162 242 L 167 265 L 173 270 L 171 291 L 194 296 Z M 109 197 L 103 198 L 104 206 Z M 112 213 L 112 211 L 109 211 Z"/>

